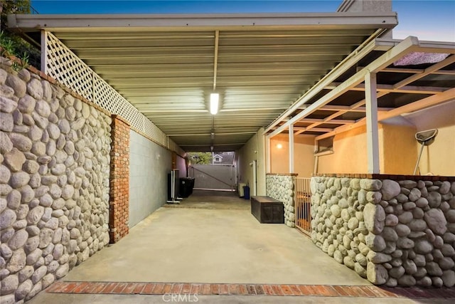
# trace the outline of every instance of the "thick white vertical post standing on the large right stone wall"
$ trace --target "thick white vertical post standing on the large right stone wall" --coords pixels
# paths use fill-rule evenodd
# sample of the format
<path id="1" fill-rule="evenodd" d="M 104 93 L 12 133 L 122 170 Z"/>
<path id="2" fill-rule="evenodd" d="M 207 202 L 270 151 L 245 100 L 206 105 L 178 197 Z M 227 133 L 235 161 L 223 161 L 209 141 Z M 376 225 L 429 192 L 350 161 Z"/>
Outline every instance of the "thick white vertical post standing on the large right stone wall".
<path id="1" fill-rule="evenodd" d="M 367 108 L 368 173 L 379 174 L 378 96 L 376 74 L 365 75 L 365 105 Z"/>

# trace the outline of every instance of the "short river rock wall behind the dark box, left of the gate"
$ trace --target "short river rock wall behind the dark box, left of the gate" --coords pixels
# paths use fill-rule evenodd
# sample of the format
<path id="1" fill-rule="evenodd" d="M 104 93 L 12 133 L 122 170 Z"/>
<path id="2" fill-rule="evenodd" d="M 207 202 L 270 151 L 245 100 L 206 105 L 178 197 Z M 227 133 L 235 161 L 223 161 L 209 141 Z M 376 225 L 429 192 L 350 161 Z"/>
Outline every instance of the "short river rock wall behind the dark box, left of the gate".
<path id="1" fill-rule="evenodd" d="M 267 174 L 266 193 L 284 204 L 284 224 L 295 227 L 294 175 Z"/>

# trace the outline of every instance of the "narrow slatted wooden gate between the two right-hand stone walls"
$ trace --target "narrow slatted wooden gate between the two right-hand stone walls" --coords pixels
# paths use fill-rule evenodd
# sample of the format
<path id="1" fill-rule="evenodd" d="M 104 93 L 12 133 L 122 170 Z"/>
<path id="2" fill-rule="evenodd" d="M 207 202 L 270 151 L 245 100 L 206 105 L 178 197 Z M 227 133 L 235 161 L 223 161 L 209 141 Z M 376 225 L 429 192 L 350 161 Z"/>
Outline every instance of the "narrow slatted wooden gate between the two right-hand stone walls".
<path id="1" fill-rule="evenodd" d="M 305 234 L 311 233 L 311 190 L 309 177 L 296 178 L 296 227 Z"/>

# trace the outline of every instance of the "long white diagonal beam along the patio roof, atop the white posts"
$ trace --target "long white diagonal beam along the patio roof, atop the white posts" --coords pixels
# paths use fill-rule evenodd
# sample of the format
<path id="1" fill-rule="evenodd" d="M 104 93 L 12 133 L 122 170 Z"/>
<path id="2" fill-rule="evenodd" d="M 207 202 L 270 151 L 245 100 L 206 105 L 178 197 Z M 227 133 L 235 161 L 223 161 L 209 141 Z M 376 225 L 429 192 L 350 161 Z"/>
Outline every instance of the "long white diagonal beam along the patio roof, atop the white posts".
<path id="1" fill-rule="evenodd" d="M 405 56 L 407 53 L 415 51 L 418 45 L 419 39 L 417 39 L 417 37 L 414 36 L 407 37 L 405 40 L 398 43 L 397 46 L 391 48 L 389 51 L 382 54 L 382 56 L 377 58 L 375 61 L 367 65 L 367 68 L 364 68 L 363 70 L 360 70 L 360 72 L 355 73 L 355 75 L 345 80 L 343 83 L 341 83 L 341 85 L 338 85 L 338 87 L 334 88 L 333 90 L 331 90 L 331 92 L 327 93 L 322 98 L 317 100 L 316 103 L 312 103 L 311 105 L 309 105 L 308 108 L 292 117 L 288 122 L 280 126 L 277 130 L 274 130 L 272 133 L 270 133 L 270 135 L 274 136 L 283 132 L 283 130 L 286 130 L 289 125 L 294 125 L 294 123 L 310 115 L 312 112 L 315 112 L 323 105 L 327 105 L 338 96 L 342 95 L 343 93 L 346 93 L 350 88 L 353 88 L 355 87 L 355 85 L 362 83 L 365 78 L 365 75 L 367 75 L 368 73 L 376 73 L 382 70 L 382 68 L 387 67 L 388 65 L 390 65 L 390 63 L 395 62 L 397 58 L 402 58 L 402 56 Z"/>

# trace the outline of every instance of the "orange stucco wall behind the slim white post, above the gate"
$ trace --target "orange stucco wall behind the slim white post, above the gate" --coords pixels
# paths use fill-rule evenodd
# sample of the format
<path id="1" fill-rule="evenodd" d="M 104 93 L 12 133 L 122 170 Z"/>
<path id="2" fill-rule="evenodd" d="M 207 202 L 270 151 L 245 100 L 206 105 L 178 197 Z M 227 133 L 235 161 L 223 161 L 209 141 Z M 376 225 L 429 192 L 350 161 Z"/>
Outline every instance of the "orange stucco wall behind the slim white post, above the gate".
<path id="1" fill-rule="evenodd" d="M 282 148 L 277 147 L 278 144 Z M 270 140 L 271 172 L 289 173 L 289 136 L 277 135 Z M 294 173 L 299 177 L 311 177 L 314 169 L 314 136 L 294 137 Z"/>

